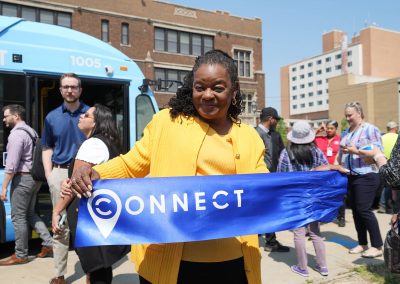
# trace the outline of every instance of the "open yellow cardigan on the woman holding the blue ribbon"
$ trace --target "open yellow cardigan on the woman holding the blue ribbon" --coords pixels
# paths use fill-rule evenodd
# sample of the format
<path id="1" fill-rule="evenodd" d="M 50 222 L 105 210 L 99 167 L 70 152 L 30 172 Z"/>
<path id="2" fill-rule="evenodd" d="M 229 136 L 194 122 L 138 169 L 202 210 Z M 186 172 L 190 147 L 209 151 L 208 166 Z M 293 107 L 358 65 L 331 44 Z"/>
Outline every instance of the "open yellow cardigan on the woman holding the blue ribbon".
<path id="1" fill-rule="evenodd" d="M 154 115 L 133 149 L 94 169 L 102 179 L 194 176 L 208 128 L 199 118 L 172 119 L 169 109 L 162 110 Z M 233 124 L 231 137 L 238 174 L 268 172 L 264 163 L 265 147 L 254 128 Z M 240 240 L 248 282 L 261 283 L 258 237 L 242 236 Z M 183 243 L 132 245 L 132 260 L 138 273 L 151 283 L 175 284 L 182 250 Z"/>

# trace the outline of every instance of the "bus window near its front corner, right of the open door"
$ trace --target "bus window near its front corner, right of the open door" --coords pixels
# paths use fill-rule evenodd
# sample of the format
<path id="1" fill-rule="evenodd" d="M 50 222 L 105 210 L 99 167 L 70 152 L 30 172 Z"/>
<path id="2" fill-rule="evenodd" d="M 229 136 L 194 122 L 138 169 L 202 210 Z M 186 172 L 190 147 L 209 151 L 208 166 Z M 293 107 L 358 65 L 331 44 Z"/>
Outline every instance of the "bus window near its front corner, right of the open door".
<path id="1" fill-rule="evenodd" d="M 151 99 L 147 95 L 136 98 L 136 140 L 143 136 L 143 130 L 155 113 Z"/>

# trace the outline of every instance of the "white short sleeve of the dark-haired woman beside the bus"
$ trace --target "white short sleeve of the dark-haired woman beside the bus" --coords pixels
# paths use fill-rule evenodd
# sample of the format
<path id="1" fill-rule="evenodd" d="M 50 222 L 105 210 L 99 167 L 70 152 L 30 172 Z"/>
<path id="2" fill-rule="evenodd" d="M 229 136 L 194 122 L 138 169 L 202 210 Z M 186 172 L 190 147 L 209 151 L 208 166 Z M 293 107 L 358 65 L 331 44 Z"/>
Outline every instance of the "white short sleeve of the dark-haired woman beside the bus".
<path id="1" fill-rule="evenodd" d="M 107 145 L 92 137 L 82 143 L 75 159 L 98 165 L 107 162 L 109 157 Z"/>

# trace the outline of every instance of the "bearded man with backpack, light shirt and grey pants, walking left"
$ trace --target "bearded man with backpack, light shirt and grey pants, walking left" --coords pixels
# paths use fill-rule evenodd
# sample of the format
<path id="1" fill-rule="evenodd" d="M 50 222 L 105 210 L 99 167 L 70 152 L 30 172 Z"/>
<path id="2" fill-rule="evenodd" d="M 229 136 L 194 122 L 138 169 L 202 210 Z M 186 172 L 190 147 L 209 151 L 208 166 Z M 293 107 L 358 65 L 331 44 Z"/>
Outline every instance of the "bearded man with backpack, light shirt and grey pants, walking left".
<path id="1" fill-rule="evenodd" d="M 53 240 L 46 225 L 35 212 L 36 196 L 41 182 L 35 181 L 29 173 L 32 168 L 32 149 L 38 137 L 35 130 L 24 121 L 25 109 L 20 105 L 3 107 L 3 122 L 11 128 L 7 143 L 7 158 L 0 199 L 7 200 L 8 185 L 11 182 L 11 220 L 15 232 L 15 253 L 0 261 L 0 266 L 28 262 L 28 225 L 40 235 L 42 251 L 37 257 L 50 256 Z"/>

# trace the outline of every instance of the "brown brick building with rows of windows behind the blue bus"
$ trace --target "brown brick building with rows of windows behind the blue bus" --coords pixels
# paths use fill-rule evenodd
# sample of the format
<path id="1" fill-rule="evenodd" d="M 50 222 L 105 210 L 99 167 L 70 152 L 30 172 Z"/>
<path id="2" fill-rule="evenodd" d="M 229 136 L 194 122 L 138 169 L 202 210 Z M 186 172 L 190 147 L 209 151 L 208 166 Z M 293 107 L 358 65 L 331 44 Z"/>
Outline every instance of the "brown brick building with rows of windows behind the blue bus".
<path id="1" fill-rule="evenodd" d="M 109 42 L 146 78 L 181 81 L 198 55 L 216 48 L 237 60 L 244 94 L 242 120 L 255 124 L 265 105 L 261 20 L 153 0 L 8 0 L 0 14 L 58 24 Z M 167 87 L 166 84 L 163 87 Z M 160 108 L 177 85 L 155 91 Z"/>

